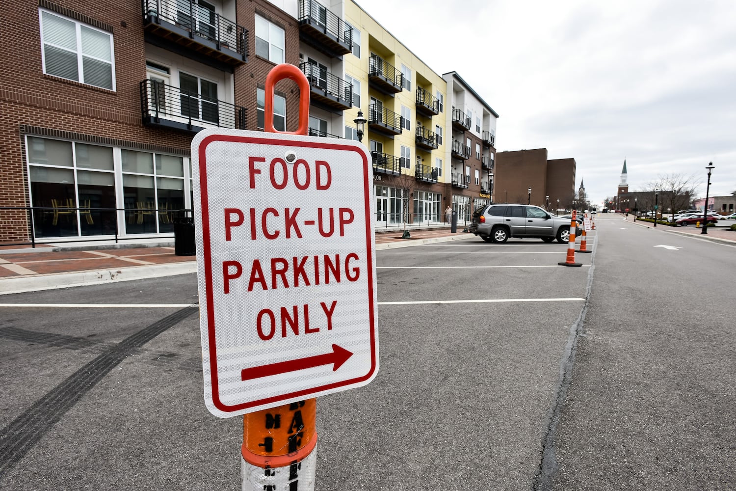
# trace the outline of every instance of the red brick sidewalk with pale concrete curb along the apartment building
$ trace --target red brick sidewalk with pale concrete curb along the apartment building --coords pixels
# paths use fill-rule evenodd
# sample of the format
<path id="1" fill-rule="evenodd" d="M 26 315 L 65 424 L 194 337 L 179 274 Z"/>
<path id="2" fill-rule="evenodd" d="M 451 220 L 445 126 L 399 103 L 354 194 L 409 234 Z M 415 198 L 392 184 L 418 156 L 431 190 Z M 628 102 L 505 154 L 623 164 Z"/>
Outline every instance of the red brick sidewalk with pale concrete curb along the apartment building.
<path id="1" fill-rule="evenodd" d="M 375 249 L 408 247 L 473 237 L 449 228 L 375 234 Z M 0 246 L 0 295 L 183 275 L 197 271 L 194 255 L 174 255 L 173 239 L 131 243 L 76 242 L 38 244 L 35 248 Z"/>

